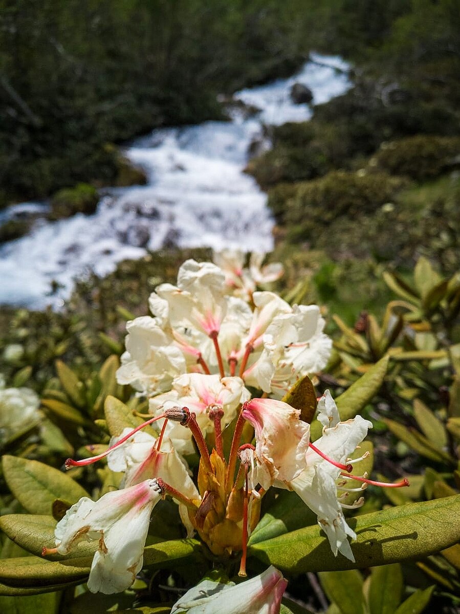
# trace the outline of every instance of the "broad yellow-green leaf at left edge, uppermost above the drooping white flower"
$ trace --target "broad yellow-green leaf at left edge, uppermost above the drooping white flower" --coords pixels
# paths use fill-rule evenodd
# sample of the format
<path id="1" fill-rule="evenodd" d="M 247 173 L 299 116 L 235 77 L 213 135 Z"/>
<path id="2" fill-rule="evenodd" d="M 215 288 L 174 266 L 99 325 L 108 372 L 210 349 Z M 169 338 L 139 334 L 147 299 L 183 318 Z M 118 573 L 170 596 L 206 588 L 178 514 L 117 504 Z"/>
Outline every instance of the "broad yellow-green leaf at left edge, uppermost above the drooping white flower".
<path id="1" fill-rule="evenodd" d="M 76 503 L 88 493 L 69 475 L 39 461 L 4 456 L 2 468 L 18 501 L 32 514 L 51 514 L 55 499 Z"/>

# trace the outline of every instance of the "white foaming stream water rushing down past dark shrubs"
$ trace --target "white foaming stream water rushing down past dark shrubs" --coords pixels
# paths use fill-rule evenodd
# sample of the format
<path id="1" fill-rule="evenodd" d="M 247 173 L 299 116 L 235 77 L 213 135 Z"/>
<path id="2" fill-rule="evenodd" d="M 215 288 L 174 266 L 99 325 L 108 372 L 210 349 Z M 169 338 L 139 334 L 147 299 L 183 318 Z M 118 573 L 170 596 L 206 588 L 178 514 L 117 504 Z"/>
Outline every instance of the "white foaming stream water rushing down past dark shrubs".
<path id="1" fill-rule="evenodd" d="M 28 236 L 1 247 L 0 303 L 58 308 L 75 278 L 89 271 L 107 274 L 120 260 L 141 258 L 147 249 L 270 251 L 267 197 L 243 169 L 251 142 L 263 141 L 263 124 L 310 119 L 310 107 L 290 100 L 294 83 L 308 85 L 315 104 L 349 88 L 348 65 L 340 58 L 312 54 L 312 60 L 290 79 L 237 92 L 236 100 L 260 109 L 249 118 L 234 110 L 231 122 L 161 128 L 139 139 L 125 153 L 146 171 L 148 185 L 103 190 L 92 216 L 39 220 Z M 16 205 L 3 217 L 34 206 L 39 209 L 36 203 Z M 52 282 L 60 288 L 50 295 Z"/>

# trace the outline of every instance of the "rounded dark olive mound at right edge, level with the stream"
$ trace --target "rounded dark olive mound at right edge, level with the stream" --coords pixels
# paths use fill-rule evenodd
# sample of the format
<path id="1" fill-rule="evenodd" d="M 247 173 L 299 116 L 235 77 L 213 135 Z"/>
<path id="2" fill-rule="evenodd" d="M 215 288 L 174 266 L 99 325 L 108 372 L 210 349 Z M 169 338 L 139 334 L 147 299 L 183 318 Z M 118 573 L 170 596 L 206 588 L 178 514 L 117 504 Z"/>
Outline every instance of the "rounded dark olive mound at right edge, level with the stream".
<path id="1" fill-rule="evenodd" d="M 370 165 L 390 174 L 424 181 L 453 168 L 454 158 L 457 158 L 457 164 L 460 163 L 459 156 L 459 137 L 418 134 L 382 143 Z"/>

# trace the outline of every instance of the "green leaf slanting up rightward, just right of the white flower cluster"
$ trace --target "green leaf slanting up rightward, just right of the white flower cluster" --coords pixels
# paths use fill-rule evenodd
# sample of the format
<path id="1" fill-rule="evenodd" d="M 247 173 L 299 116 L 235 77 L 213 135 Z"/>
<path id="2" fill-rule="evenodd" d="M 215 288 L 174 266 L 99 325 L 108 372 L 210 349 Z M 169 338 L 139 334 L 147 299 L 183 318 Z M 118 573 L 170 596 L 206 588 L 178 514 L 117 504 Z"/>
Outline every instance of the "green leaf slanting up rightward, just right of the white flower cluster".
<path id="1" fill-rule="evenodd" d="M 367 373 L 359 378 L 354 384 L 337 397 L 338 413 L 342 421 L 354 418 L 359 414 L 365 405 L 375 396 L 383 383 L 383 379 L 388 368 L 388 356 L 384 356 L 371 367 Z M 314 441 L 321 437 L 322 426 L 318 420 L 311 424 L 310 436 Z"/>

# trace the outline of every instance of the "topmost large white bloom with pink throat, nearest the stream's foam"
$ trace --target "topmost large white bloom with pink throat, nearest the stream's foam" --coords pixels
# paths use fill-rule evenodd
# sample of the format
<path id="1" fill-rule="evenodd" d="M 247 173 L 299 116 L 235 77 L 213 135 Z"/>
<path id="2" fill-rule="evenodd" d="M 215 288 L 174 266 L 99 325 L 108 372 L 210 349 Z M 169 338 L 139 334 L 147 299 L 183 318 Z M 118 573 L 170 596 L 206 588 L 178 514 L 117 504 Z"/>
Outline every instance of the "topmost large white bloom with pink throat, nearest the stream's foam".
<path id="1" fill-rule="evenodd" d="M 161 284 L 157 297 L 167 301 L 172 327 L 194 327 L 208 336 L 217 335 L 224 319 L 227 303 L 224 298 L 225 276 L 211 262 L 185 260 L 177 274 L 177 286 Z M 150 308 L 158 313 L 158 299 L 150 298 Z M 162 303 L 162 313 L 166 313 Z"/>

